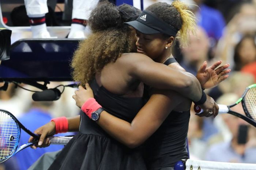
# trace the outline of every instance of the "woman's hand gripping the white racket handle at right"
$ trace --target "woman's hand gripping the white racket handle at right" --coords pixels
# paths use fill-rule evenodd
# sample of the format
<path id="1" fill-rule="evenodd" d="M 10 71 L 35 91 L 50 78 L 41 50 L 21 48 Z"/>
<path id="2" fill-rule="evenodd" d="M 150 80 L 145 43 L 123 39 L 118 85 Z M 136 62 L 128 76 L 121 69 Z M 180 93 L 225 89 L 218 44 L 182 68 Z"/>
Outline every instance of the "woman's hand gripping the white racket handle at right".
<path id="1" fill-rule="evenodd" d="M 219 113 L 219 106 L 218 104 L 214 101 L 213 98 L 210 96 L 206 95 L 206 102 L 204 102 L 202 105 L 199 105 L 201 109 L 204 110 L 203 113 L 196 114 L 199 117 L 210 117 L 214 116 L 216 117 Z"/>

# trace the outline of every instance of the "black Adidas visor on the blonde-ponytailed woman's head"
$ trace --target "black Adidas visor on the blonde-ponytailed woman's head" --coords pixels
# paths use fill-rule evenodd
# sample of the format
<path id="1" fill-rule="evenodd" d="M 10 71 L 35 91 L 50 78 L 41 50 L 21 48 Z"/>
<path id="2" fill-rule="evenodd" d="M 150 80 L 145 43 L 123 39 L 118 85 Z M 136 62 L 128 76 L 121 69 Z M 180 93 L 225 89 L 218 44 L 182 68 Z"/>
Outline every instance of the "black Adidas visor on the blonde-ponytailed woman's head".
<path id="1" fill-rule="evenodd" d="M 163 33 L 175 36 L 178 32 L 173 26 L 167 24 L 149 11 L 142 11 L 135 21 L 125 22 L 143 34 Z"/>

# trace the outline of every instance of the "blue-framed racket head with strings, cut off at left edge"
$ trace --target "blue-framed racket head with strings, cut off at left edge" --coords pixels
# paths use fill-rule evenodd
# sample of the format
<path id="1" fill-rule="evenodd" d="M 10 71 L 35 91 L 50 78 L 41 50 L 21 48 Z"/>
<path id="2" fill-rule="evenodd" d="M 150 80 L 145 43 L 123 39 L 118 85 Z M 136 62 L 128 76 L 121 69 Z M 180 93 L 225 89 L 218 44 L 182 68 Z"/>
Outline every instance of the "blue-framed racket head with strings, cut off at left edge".
<path id="1" fill-rule="evenodd" d="M 17 150 L 20 140 L 18 120 L 7 110 L 0 109 L 0 163 Z"/>

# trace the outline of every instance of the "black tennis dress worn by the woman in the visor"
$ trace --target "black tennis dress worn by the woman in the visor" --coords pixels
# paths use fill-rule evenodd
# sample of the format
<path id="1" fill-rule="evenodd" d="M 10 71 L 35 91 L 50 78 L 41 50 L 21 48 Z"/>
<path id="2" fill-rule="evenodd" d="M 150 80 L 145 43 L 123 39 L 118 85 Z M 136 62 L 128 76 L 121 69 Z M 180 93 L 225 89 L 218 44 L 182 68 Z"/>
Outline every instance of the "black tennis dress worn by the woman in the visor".
<path id="1" fill-rule="evenodd" d="M 164 64 L 177 62 L 169 58 Z M 190 110 L 172 111 L 157 131 L 145 142 L 143 155 L 147 170 L 173 170 L 174 164 L 188 159 L 187 133 Z"/>

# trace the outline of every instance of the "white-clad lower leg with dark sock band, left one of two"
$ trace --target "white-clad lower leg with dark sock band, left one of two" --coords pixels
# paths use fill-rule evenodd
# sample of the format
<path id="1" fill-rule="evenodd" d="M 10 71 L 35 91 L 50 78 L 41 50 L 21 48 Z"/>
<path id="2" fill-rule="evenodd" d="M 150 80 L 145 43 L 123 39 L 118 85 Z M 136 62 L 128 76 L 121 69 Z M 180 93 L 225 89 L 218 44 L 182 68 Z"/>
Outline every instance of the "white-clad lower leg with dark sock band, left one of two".
<path id="1" fill-rule="evenodd" d="M 45 23 L 47 0 L 24 0 L 33 38 L 50 38 Z"/>

